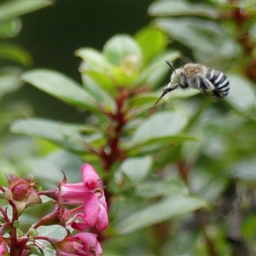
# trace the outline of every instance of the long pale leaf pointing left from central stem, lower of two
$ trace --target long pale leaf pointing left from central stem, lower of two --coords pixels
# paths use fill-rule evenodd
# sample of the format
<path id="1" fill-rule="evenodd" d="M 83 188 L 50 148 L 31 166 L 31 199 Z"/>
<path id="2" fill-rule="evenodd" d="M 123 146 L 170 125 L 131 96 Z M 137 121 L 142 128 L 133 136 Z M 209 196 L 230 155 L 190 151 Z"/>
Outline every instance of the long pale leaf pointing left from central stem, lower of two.
<path id="1" fill-rule="evenodd" d="M 84 138 L 79 135 L 79 131 L 84 130 L 84 125 L 61 124 L 45 119 L 23 119 L 16 121 L 10 129 L 13 132 L 47 139 L 74 151 L 86 151 Z"/>

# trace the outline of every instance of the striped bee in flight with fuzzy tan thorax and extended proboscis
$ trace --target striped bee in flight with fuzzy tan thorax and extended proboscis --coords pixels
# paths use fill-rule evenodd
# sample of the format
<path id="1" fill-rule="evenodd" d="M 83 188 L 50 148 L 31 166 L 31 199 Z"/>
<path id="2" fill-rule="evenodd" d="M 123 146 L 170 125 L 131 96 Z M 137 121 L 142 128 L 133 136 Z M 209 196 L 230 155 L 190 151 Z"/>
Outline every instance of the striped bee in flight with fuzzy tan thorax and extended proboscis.
<path id="1" fill-rule="evenodd" d="M 217 96 L 218 98 L 224 98 L 229 93 L 229 79 L 219 70 L 197 63 L 188 63 L 184 67 L 176 69 L 169 61 L 166 61 L 166 63 L 172 67 L 173 70 L 171 81 L 163 89 L 162 95 L 154 103 L 154 106 L 166 93 L 178 87 L 181 89 L 195 88 L 207 96 Z"/>

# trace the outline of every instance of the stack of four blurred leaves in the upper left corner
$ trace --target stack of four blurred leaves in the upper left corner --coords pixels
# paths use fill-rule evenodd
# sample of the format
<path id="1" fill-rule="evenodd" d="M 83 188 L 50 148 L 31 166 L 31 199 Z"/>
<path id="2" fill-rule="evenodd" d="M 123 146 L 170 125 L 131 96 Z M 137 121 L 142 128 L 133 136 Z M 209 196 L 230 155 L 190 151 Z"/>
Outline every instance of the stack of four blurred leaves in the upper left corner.
<path id="1" fill-rule="evenodd" d="M 20 73 L 22 70 L 17 64 L 28 67 L 32 62 L 32 58 L 26 49 L 9 41 L 9 38 L 15 38 L 20 33 L 22 23 L 19 16 L 44 8 L 49 3 L 50 1 L 21 3 L 20 1 L 12 0 L 0 4 L 0 38 L 2 39 L 0 49 L 2 61 L 0 70 L 1 97 L 20 87 Z"/>

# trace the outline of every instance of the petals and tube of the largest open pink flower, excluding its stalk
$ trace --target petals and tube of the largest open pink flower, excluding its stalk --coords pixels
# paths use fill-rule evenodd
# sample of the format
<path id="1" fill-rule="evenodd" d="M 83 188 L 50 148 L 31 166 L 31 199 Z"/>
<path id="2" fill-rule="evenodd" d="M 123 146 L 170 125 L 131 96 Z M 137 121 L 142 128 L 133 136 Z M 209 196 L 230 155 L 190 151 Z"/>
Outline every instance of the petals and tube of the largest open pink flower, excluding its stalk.
<path id="1" fill-rule="evenodd" d="M 89 164 L 81 167 L 83 183 L 62 183 L 58 201 L 63 205 L 84 204 L 83 212 L 73 219 L 72 227 L 84 230 L 96 226 L 99 231 L 108 227 L 108 207 L 102 182 Z"/>

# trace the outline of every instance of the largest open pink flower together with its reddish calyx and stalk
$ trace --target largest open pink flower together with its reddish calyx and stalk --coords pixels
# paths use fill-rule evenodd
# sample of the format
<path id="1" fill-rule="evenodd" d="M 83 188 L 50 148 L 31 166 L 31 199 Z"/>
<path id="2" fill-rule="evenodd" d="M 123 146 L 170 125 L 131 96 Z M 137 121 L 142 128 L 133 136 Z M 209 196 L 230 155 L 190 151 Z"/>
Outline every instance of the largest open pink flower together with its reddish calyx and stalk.
<path id="1" fill-rule="evenodd" d="M 55 215 L 49 216 L 51 219 L 46 220 L 50 223 L 52 220 L 55 221 L 54 218 L 57 216 L 63 222 L 63 220 L 67 220 L 67 216 L 73 215 L 73 219 L 66 224 L 71 224 L 76 230 L 82 231 L 95 226 L 99 231 L 105 230 L 108 228 L 108 207 L 102 181 L 89 164 L 81 166 L 81 172 L 82 183 L 67 183 L 64 176 L 58 189 L 40 192 L 40 195 L 54 198 L 58 204 L 55 209 L 60 209 L 55 211 Z M 65 205 L 78 205 L 78 207 L 65 212 L 63 211 Z M 65 216 L 62 216 L 62 213 L 65 213 Z"/>

